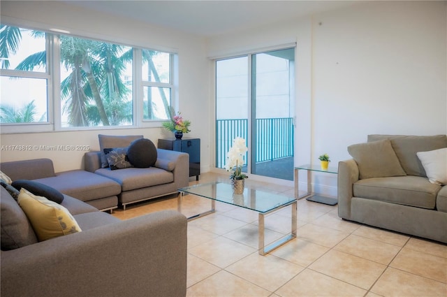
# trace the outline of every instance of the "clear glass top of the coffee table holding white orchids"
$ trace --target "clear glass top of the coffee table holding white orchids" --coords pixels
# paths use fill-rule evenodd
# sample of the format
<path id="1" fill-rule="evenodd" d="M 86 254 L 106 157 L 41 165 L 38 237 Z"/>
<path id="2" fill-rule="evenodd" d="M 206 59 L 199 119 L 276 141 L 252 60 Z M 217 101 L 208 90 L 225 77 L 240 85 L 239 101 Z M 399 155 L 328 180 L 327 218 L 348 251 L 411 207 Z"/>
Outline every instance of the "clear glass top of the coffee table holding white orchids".
<path id="1" fill-rule="evenodd" d="M 179 192 L 189 193 L 215 201 L 237 205 L 257 212 L 269 212 L 275 208 L 293 203 L 293 196 L 284 196 L 268 191 L 252 189 L 245 185 L 244 194 L 233 194 L 230 184 L 212 182 L 209 184 L 196 184 L 191 187 L 178 189 Z"/>

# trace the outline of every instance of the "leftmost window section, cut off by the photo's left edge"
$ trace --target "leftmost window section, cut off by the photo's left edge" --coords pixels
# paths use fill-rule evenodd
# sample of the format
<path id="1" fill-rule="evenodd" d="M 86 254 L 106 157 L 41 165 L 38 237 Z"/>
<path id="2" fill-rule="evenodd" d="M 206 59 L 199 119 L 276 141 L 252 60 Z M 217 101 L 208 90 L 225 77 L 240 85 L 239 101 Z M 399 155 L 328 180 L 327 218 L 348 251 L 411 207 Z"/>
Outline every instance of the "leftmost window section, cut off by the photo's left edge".
<path id="1" fill-rule="evenodd" d="M 49 80 L 45 32 L 0 26 L 0 123 L 45 123 Z"/>

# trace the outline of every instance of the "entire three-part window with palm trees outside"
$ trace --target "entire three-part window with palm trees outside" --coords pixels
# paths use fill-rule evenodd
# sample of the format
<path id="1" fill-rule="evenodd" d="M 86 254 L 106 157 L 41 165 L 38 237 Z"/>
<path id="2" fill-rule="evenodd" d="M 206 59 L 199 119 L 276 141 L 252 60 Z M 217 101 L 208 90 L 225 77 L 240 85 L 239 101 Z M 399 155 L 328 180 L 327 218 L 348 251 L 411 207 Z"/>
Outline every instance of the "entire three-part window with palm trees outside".
<path id="1" fill-rule="evenodd" d="M 2 125 L 59 121 L 55 129 L 75 129 L 170 118 L 172 53 L 1 24 L 0 55 Z"/>

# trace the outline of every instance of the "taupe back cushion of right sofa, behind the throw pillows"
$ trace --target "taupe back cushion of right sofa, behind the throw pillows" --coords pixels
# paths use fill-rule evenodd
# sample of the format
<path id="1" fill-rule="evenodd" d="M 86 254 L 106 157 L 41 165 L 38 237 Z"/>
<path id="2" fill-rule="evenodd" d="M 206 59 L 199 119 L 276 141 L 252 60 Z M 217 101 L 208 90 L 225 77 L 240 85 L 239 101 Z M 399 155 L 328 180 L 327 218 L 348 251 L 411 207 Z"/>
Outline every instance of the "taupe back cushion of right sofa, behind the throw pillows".
<path id="1" fill-rule="evenodd" d="M 427 176 L 416 152 L 427 152 L 447 147 L 446 135 L 405 136 L 405 135 L 369 135 L 368 141 L 390 139 L 400 164 L 408 175 Z"/>

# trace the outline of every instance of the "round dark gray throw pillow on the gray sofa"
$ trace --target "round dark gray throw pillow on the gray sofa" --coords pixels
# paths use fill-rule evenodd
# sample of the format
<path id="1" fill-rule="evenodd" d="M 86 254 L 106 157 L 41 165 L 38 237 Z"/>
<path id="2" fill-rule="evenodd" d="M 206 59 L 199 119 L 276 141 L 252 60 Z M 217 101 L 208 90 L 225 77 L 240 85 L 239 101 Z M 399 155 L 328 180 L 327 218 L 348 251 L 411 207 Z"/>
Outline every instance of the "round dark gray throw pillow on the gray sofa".
<path id="1" fill-rule="evenodd" d="M 156 161 L 156 147 L 151 140 L 141 138 L 133 140 L 127 150 L 129 162 L 137 168 L 154 166 Z"/>

